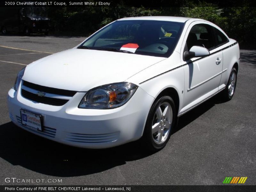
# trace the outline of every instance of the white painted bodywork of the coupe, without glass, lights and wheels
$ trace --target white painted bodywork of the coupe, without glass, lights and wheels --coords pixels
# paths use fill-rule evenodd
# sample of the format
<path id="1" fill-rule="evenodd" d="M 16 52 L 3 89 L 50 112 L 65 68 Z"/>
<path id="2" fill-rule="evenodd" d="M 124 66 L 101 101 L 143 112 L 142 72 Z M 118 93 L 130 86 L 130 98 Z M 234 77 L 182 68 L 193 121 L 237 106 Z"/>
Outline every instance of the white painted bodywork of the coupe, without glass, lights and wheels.
<path id="1" fill-rule="evenodd" d="M 42 86 L 72 90 L 72 97 L 46 93 L 47 97 L 66 99 L 63 106 L 28 100 L 21 88 L 35 93 L 21 82 L 17 91 L 8 92 L 9 115 L 13 123 L 39 136 L 84 148 L 108 148 L 138 140 L 148 112 L 165 89 L 177 92 L 180 116 L 225 88 L 234 65 L 239 65 L 239 46 L 211 22 L 182 17 L 136 17 L 120 20 L 161 20 L 185 23 L 180 39 L 169 58 L 122 52 L 70 49 L 29 64 L 23 81 Z M 210 50 L 206 57 L 183 61 L 183 50 L 190 29 L 195 24 L 219 29 L 229 42 Z M 221 59 L 217 64 L 217 58 Z M 84 109 L 78 104 L 92 88 L 130 82 L 138 89 L 123 106 L 113 109 Z M 21 125 L 20 109 L 41 114 L 44 131 Z"/>

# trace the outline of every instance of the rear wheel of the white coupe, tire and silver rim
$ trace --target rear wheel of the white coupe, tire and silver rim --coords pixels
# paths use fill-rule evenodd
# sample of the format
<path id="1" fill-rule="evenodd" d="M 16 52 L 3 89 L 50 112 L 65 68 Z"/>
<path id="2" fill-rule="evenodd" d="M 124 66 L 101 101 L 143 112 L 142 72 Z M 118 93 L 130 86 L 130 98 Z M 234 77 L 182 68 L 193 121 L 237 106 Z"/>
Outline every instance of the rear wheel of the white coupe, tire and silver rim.
<path id="1" fill-rule="evenodd" d="M 236 68 L 232 68 L 230 75 L 228 77 L 228 83 L 226 88 L 222 91 L 222 100 L 229 101 L 233 98 L 236 90 L 236 79 L 237 71 Z"/>

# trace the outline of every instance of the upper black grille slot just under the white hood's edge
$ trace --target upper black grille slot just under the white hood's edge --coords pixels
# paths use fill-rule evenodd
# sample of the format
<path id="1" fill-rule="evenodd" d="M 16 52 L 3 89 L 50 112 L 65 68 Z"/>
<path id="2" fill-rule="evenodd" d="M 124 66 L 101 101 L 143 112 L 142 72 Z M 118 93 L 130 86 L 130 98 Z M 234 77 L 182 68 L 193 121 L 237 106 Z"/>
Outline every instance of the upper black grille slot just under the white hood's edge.
<path id="1" fill-rule="evenodd" d="M 42 86 L 42 85 L 33 84 L 33 83 L 28 82 L 28 81 L 23 81 L 23 85 L 26 86 L 26 87 L 29 87 L 31 89 L 35 89 L 37 91 L 52 93 L 52 94 L 56 94 L 56 95 L 63 95 L 63 96 L 73 97 L 76 94 L 76 91 L 46 87 L 46 86 Z"/>

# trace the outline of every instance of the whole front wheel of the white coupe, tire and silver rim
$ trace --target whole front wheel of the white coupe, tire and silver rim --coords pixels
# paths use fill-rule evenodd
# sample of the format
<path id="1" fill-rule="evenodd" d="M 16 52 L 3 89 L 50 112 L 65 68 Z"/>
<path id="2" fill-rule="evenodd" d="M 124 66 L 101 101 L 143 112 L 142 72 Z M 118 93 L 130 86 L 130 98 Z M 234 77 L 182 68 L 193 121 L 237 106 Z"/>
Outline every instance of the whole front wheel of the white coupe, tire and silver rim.
<path id="1" fill-rule="evenodd" d="M 150 151 L 165 147 L 175 126 L 176 109 L 169 96 L 156 100 L 149 110 L 142 142 Z"/>

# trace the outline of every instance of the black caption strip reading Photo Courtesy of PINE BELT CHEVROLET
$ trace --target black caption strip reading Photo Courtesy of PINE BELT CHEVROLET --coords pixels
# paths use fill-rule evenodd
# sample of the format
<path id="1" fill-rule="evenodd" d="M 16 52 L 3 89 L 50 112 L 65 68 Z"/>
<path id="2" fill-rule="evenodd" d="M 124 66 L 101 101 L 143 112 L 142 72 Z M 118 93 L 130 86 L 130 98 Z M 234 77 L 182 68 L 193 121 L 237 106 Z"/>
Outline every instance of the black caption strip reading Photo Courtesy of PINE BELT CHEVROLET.
<path id="1" fill-rule="evenodd" d="M 43 185 L 27 185 L 27 186 L 18 186 L 18 185 L 2 185 L 0 186 L 0 191 L 15 191 L 15 192 L 23 192 L 23 191 L 30 191 L 30 192 L 42 192 L 42 191 L 52 191 L 52 192 L 175 192 L 175 191 L 182 191 L 182 192 L 199 192 L 199 191 L 207 191 L 207 192 L 220 192 L 220 191 L 246 191 L 246 192 L 255 192 L 256 185 L 123 185 L 123 186 L 43 186 Z"/>

